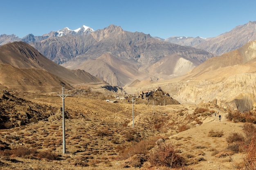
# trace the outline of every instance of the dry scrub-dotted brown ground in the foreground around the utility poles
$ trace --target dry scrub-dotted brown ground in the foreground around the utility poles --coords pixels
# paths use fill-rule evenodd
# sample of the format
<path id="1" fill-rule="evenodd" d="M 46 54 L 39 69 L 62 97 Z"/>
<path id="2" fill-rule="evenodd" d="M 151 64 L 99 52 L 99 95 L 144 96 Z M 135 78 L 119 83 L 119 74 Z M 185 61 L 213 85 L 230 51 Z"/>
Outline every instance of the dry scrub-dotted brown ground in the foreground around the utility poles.
<path id="1" fill-rule="evenodd" d="M 135 101 L 135 128 L 132 128 L 131 102 L 109 103 L 97 99 L 96 94 L 100 97 L 99 93 L 89 89 L 79 91 L 76 95 L 72 95 L 74 91 L 69 91 L 72 97 L 65 99 L 65 154 L 62 154 L 62 113 L 58 109 L 62 106 L 61 98 L 8 92 L 23 96 L 22 105 L 30 105 L 27 113 L 34 111 L 40 115 L 47 111 L 49 117 L 47 121 L 42 121 L 43 117 L 37 119 L 39 117 L 33 114 L 29 114 L 31 117 L 22 115 L 22 105 L 15 106 L 19 113 L 16 115 L 11 112 L 11 100 L 0 100 L 1 108 L 5 105 L 9 116 L 22 116 L 30 121 L 25 126 L 0 130 L 0 168 L 134 170 L 140 167 L 141 170 L 168 170 L 168 167 L 153 166 L 145 157 L 136 154 L 142 153 L 139 148 L 147 147 L 143 153 L 150 157 L 157 148 L 155 142 L 161 137 L 165 139 L 165 144 L 172 144 L 179 150 L 179 155 L 186 159 L 191 170 L 232 170 L 243 163 L 245 153 L 231 153 L 226 140 L 233 132 L 243 134 L 243 124 L 228 121 L 225 118 L 227 110 L 215 104 L 155 106 L 153 115 L 152 105 L 136 104 Z M 15 96 L 4 91 L 2 94 L 16 101 Z M 205 111 L 195 113 L 198 108 L 204 108 Z M 222 119 L 219 121 L 218 115 L 211 115 L 211 110 L 218 112 Z M 223 134 L 209 137 L 211 130 Z"/>

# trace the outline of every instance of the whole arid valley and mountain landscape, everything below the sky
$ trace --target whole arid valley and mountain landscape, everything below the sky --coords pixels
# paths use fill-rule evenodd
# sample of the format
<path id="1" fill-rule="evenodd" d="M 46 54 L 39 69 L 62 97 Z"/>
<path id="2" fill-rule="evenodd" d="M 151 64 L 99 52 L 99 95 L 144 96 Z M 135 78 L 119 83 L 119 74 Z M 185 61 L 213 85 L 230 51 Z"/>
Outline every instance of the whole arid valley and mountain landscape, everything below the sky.
<path id="1" fill-rule="evenodd" d="M 0 169 L 256 170 L 255 80 L 256 21 L 0 35 Z"/>

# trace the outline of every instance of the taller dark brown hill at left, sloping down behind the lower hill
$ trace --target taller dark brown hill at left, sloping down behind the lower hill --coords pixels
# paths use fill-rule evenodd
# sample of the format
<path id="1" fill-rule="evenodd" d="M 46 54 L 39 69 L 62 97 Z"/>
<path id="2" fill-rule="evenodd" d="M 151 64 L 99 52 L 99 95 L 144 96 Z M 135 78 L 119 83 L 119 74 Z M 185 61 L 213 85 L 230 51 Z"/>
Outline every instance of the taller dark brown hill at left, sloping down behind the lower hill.
<path id="1" fill-rule="evenodd" d="M 36 49 L 25 42 L 13 42 L 0 46 L 0 63 L 9 64 L 17 68 L 36 68 L 49 72 L 63 79 L 69 84 L 81 84 L 88 82 L 102 82 L 84 71 L 71 71 L 50 61 Z M 31 72 L 33 69 L 31 69 Z M 31 73 L 40 76 L 38 73 Z M 23 75 L 25 76 L 25 75 Z M 45 77 L 45 79 L 47 76 Z M 62 86 L 62 85 L 61 85 Z"/>

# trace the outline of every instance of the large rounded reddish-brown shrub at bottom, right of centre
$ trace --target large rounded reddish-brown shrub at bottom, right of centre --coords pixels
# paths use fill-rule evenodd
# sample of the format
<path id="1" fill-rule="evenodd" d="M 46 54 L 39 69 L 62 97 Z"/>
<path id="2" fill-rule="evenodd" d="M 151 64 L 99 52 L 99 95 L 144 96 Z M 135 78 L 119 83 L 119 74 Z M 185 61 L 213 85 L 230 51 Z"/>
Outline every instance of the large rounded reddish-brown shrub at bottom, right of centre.
<path id="1" fill-rule="evenodd" d="M 185 164 L 185 159 L 178 155 L 178 150 L 171 144 L 160 144 L 149 155 L 148 161 L 152 166 L 177 168 Z"/>

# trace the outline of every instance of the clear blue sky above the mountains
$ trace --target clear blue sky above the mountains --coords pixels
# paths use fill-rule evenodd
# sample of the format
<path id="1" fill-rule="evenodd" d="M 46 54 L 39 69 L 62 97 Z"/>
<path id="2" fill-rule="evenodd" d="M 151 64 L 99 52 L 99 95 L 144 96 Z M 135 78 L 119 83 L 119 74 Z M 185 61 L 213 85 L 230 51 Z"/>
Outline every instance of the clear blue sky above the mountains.
<path id="1" fill-rule="evenodd" d="M 256 0 L 4 0 L 0 35 L 22 38 L 110 24 L 154 37 L 216 37 L 256 20 Z"/>

